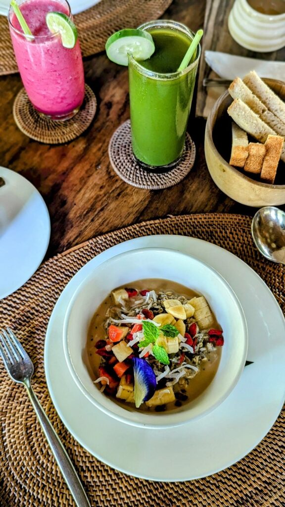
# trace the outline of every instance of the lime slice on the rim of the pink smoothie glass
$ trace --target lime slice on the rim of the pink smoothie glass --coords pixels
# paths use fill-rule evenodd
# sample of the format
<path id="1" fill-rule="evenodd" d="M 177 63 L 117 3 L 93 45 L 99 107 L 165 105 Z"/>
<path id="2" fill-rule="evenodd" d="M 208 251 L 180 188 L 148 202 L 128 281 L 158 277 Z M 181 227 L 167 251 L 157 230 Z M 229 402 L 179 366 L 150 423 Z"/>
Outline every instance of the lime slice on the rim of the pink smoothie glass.
<path id="1" fill-rule="evenodd" d="M 72 49 L 77 41 L 77 28 L 71 19 L 62 12 L 48 12 L 46 23 L 52 33 L 60 33 L 62 46 Z"/>

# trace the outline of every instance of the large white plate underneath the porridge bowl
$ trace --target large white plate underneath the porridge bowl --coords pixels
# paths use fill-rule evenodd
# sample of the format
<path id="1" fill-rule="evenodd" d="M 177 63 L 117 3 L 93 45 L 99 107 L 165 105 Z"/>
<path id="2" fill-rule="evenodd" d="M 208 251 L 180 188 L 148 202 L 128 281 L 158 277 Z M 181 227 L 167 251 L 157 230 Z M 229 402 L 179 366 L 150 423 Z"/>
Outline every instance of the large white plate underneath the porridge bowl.
<path id="1" fill-rule="evenodd" d="M 208 416 L 176 428 L 150 430 L 114 421 L 85 398 L 63 353 L 67 305 L 92 265 L 133 248 L 175 248 L 210 264 L 234 289 L 248 325 L 248 359 L 227 400 Z M 276 420 L 285 397 L 285 320 L 262 279 L 219 246 L 184 236 L 147 236 L 116 245 L 86 264 L 65 287 L 51 315 L 45 372 L 59 417 L 75 439 L 104 463 L 135 477 L 186 481 L 219 472 L 250 452 Z"/>

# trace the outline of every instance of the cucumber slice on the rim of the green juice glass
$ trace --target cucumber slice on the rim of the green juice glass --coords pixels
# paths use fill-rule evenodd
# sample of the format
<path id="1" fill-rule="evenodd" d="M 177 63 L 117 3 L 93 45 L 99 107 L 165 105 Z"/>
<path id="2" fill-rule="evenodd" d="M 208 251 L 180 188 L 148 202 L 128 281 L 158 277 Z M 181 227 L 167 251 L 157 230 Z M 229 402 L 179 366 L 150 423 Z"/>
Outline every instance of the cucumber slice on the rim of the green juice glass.
<path id="1" fill-rule="evenodd" d="M 105 48 L 108 58 L 119 65 L 128 65 L 128 55 L 137 61 L 147 60 L 155 51 L 151 34 L 134 28 L 113 33 Z"/>

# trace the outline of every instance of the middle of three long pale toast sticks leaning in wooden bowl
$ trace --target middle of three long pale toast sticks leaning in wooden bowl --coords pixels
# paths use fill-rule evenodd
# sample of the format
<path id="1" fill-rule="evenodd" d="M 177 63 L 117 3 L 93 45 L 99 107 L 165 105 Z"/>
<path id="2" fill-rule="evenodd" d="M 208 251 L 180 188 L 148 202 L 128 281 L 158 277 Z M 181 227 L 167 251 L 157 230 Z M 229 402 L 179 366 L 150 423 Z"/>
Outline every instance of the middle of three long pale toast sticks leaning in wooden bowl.
<path id="1" fill-rule="evenodd" d="M 229 87 L 229 94 L 233 99 L 240 98 L 254 113 L 259 115 L 262 121 L 271 127 L 278 135 L 285 137 L 285 123 L 275 116 L 267 107 L 253 94 L 240 78 L 236 78 Z M 285 121 L 285 118 L 283 119 Z"/>

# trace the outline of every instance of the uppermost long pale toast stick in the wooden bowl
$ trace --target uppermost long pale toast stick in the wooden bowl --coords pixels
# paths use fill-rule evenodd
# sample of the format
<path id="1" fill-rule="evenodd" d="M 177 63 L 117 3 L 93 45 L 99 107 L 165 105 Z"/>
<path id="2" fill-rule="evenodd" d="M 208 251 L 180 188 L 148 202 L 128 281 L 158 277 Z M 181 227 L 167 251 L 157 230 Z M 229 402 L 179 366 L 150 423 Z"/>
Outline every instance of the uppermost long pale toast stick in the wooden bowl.
<path id="1" fill-rule="evenodd" d="M 282 123 L 285 123 L 285 102 L 281 100 L 252 70 L 243 78 L 243 83 L 274 113 Z"/>

